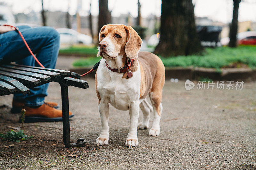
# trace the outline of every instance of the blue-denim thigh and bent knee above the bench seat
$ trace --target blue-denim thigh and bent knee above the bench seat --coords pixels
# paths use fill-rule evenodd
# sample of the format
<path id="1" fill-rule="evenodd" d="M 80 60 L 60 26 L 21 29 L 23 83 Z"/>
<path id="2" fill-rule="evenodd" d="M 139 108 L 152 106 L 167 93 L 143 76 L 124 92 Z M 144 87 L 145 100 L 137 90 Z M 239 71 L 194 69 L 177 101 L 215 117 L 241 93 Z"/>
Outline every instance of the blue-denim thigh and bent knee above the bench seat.
<path id="1" fill-rule="evenodd" d="M 37 53 L 37 59 L 42 64 L 44 63 L 44 67 L 55 66 L 54 62 L 57 60 L 60 43 L 59 33 L 55 29 L 51 27 L 23 27 L 20 32 L 32 52 Z M 0 52 L 1 64 L 24 59 L 31 55 L 16 31 L 0 34 Z"/>

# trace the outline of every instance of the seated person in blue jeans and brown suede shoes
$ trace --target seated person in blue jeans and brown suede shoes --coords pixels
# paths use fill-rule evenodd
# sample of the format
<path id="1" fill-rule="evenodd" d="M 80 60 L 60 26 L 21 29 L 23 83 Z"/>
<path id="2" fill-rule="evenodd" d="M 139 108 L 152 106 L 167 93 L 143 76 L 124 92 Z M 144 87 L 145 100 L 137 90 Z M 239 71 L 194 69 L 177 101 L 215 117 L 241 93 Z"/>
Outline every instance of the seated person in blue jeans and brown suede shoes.
<path id="1" fill-rule="evenodd" d="M 27 25 L 18 26 L 28 46 L 44 67 L 55 68 L 60 47 L 59 33 L 47 26 L 31 28 Z M 20 35 L 10 26 L 0 25 L 0 64 L 16 61 L 16 64 L 40 67 L 29 53 Z M 57 110 L 58 104 L 45 102 L 49 83 L 30 89 L 30 93 L 15 93 L 12 101 L 12 113 L 26 110 L 25 122 L 62 121 L 62 111 Z M 69 116 L 72 115 L 69 112 Z"/>

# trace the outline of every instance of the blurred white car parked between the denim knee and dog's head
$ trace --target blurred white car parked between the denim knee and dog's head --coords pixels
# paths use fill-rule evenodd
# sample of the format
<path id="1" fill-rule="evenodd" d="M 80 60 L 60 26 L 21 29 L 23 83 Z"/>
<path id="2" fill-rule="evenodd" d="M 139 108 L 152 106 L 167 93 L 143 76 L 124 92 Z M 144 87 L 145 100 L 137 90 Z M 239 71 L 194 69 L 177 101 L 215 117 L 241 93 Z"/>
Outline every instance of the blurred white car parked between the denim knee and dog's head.
<path id="1" fill-rule="evenodd" d="M 56 30 L 60 33 L 60 44 L 92 44 L 92 37 L 89 35 L 68 28 L 57 28 Z"/>

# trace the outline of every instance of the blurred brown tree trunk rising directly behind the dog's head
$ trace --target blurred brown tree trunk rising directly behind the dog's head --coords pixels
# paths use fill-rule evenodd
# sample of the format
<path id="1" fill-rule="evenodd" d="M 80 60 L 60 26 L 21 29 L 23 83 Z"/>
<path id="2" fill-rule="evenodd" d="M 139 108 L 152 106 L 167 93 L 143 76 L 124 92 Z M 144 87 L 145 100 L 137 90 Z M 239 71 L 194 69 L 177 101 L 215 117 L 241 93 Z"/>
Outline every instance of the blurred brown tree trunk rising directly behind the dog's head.
<path id="1" fill-rule="evenodd" d="M 108 0 L 99 0 L 98 34 L 103 25 L 111 23 L 111 12 L 108 10 Z M 99 40 L 98 43 L 99 44 Z"/>

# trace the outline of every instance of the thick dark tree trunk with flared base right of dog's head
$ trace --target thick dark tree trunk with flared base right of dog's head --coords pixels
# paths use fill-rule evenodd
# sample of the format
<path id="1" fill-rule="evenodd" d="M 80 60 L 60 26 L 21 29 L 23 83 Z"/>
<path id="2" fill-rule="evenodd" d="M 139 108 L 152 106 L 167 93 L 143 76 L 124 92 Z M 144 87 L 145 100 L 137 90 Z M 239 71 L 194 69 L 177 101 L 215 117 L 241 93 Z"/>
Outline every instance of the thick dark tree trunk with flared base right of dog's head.
<path id="1" fill-rule="evenodd" d="M 162 0 L 160 41 L 154 53 L 191 55 L 203 50 L 196 32 L 192 0 Z"/>

